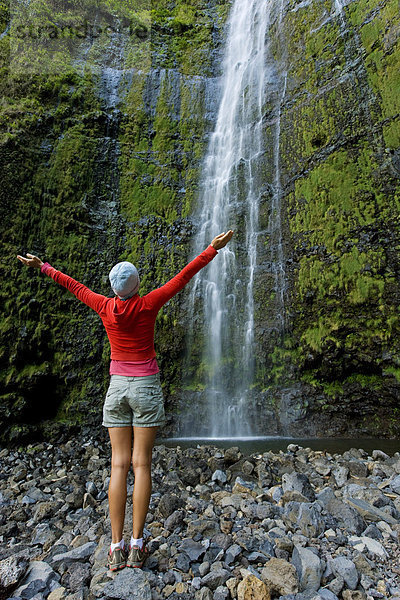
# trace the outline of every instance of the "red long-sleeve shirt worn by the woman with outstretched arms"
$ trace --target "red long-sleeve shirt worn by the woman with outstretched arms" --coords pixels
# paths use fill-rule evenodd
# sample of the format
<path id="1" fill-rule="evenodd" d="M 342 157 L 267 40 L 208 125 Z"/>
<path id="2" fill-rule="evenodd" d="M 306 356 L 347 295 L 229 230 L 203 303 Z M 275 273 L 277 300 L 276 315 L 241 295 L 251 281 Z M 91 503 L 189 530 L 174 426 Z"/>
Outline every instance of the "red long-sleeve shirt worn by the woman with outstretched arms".
<path id="1" fill-rule="evenodd" d="M 110 340 L 112 360 L 139 361 L 156 356 L 154 324 L 160 308 L 217 254 L 210 244 L 168 283 L 145 296 L 135 294 L 128 300 L 96 294 L 79 281 L 57 271 L 49 263 L 44 263 L 41 271 L 97 312 Z"/>

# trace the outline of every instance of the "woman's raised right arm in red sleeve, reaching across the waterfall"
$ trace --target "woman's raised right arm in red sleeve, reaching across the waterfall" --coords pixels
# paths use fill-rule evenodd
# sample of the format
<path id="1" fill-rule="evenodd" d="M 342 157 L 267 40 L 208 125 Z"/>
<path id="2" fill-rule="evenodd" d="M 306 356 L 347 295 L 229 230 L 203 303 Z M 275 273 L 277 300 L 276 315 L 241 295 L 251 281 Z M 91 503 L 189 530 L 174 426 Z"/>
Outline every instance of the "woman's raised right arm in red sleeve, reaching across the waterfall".
<path id="1" fill-rule="evenodd" d="M 205 267 L 217 254 L 217 250 L 220 250 L 229 242 L 233 235 L 233 231 L 227 233 L 220 233 L 217 235 L 211 244 L 194 260 L 192 260 L 186 267 L 182 269 L 178 275 L 175 275 L 165 285 L 158 289 L 150 292 L 144 296 L 146 305 L 153 310 L 160 310 L 160 308 L 168 302 L 175 294 L 177 294 L 185 285 L 202 269 Z"/>

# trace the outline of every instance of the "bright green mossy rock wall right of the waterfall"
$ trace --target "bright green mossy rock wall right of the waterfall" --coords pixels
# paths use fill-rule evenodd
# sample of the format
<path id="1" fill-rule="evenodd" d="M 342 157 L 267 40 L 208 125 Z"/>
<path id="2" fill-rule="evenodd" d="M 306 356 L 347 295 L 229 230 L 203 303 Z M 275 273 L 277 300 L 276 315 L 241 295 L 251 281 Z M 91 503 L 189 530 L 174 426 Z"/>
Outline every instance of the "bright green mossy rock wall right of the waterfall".
<path id="1" fill-rule="evenodd" d="M 316 433 L 394 435 L 400 19 L 396 1 L 346 4 L 290 2 L 277 35 L 289 328 L 271 358 Z"/>

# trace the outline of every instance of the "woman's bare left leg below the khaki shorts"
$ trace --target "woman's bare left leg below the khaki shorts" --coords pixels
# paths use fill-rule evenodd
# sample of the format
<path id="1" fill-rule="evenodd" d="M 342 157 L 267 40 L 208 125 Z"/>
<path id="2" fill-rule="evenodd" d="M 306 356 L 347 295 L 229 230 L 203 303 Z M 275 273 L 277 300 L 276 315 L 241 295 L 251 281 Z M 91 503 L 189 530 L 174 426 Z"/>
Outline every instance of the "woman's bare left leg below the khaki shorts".
<path id="1" fill-rule="evenodd" d="M 108 487 L 108 502 L 112 543 L 122 539 L 126 506 L 126 478 L 131 466 L 132 427 L 109 427 L 111 441 L 111 478 Z"/>

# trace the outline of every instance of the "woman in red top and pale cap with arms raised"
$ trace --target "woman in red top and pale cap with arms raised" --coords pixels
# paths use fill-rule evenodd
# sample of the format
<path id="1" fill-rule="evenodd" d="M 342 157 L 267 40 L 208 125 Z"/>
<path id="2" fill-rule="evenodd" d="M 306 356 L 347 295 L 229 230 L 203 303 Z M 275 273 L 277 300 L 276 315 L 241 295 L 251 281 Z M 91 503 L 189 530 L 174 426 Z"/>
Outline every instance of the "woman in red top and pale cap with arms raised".
<path id="1" fill-rule="evenodd" d="M 148 556 L 143 529 L 151 496 L 151 458 L 158 428 L 165 423 L 164 401 L 154 350 L 154 324 L 160 308 L 179 292 L 229 242 L 233 231 L 217 235 L 197 258 L 160 288 L 139 296 L 140 279 L 132 263 L 115 265 L 109 278 L 115 293 L 107 298 L 72 277 L 27 254 L 17 258 L 40 268 L 95 310 L 111 346 L 110 385 L 103 406 L 103 425 L 111 442 L 111 478 L 108 489 L 112 543 L 111 570 L 142 567 Z M 133 428 L 133 452 L 132 452 Z M 122 537 L 130 463 L 135 474 L 133 532 L 128 551 Z"/>

